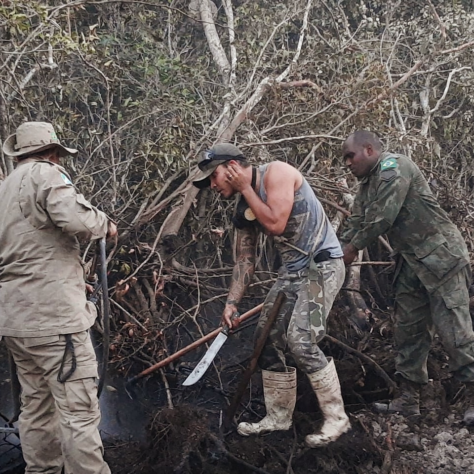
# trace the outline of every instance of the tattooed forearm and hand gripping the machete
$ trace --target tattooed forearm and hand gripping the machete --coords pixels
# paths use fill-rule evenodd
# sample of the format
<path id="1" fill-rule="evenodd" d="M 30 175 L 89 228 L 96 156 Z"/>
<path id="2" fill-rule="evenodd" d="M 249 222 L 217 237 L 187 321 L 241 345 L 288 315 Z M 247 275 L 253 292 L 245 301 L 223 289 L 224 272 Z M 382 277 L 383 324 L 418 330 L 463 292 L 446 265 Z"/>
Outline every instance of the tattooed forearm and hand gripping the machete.
<path id="1" fill-rule="evenodd" d="M 221 323 L 237 327 L 231 319 L 237 313 L 237 303 L 242 299 L 255 270 L 255 252 L 257 248 L 257 230 L 239 229 L 237 231 L 237 261 L 232 271 L 232 282 L 227 296 L 226 307 L 222 313 Z"/>

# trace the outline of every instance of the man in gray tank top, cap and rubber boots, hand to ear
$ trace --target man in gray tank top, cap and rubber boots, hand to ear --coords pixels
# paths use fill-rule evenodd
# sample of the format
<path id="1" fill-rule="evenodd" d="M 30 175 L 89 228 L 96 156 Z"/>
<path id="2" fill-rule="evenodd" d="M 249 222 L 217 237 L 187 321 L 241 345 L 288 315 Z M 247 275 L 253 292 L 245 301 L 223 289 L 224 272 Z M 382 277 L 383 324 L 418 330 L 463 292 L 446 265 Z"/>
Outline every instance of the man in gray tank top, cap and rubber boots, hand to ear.
<path id="1" fill-rule="evenodd" d="M 288 430 L 296 403 L 296 368 L 286 365 L 288 351 L 306 373 L 324 417 L 318 432 L 306 436 L 310 447 L 336 440 L 350 428 L 344 410 L 334 360 L 326 358 L 317 343 L 326 332 L 326 317 L 341 288 L 345 268 L 343 252 L 321 203 L 293 166 L 273 161 L 258 168 L 248 163 L 231 144 L 217 144 L 204 153 L 198 188 L 210 187 L 224 198 L 240 193 L 234 225 L 237 259 L 222 324 L 235 327 L 237 313 L 255 268 L 257 237 L 273 236 L 282 266 L 268 293 L 255 338 L 265 326 L 279 291 L 286 301 L 276 316 L 259 358 L 267 409 L 257 423 L 239 423 L 240 435 Z"/>

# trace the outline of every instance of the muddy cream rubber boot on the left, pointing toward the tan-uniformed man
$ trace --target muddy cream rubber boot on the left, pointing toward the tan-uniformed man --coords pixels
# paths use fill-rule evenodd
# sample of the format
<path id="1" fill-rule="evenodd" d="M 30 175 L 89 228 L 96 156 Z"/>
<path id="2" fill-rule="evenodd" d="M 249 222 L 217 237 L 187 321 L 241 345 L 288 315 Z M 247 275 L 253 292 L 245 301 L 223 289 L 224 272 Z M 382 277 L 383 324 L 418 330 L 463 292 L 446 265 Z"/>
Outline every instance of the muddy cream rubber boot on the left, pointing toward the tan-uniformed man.
<path id="1" fill-rule="evenodd" d="M 262 370 L 262 382 L 267 415 L 258 423 L 239 423 L 239 435 L 256 435 L 291 428 L 296 404 L 296 369 L 288 367 L 288 372 Z"/>

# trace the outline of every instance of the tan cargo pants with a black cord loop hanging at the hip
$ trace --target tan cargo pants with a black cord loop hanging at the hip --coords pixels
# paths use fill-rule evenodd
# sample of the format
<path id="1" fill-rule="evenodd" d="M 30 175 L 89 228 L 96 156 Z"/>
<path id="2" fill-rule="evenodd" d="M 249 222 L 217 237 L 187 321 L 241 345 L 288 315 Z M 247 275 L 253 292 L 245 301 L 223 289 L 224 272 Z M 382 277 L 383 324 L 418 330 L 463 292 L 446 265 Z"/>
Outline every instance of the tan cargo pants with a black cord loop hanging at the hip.
<path id="1" fill-rule="evenodd" d="M 99 435 L 97 360 L 88 331 L 72 335 L 77 368 L 57 377 L 65 336 L 3 337 L 21 385 L 18 421 L 25 474 L 110 474 Z M 71 367 L 68 354 L 63 374 Z"/>

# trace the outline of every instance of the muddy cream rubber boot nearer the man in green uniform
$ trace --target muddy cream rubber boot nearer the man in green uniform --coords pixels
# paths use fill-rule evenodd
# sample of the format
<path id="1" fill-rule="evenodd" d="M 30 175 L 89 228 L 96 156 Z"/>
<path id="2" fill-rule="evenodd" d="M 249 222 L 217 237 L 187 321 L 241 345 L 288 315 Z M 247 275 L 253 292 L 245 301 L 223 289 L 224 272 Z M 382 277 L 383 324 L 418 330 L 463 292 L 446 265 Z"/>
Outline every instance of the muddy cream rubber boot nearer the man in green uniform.
<path id="1" fill-rule="evenodd" d="M 308 374 L 311 387 L 315 391 L 324 422 L 319 433 L 305 438 L 310 448 L 324 446 L 335 441 L 340 435 L 351 429 L 349 417 L 344 410 L 341 386 L 334 365 L 334 359 L 328 357 L 328 364 L 314 374 Z"/>

